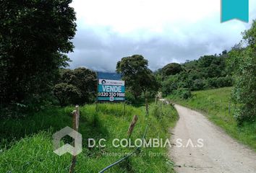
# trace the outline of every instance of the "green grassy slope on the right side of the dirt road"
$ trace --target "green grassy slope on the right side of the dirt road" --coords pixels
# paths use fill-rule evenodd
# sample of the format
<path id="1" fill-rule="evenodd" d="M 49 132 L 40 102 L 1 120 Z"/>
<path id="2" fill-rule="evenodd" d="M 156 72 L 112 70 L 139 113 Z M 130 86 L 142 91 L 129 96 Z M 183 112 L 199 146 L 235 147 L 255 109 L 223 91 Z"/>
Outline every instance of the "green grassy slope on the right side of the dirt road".
<path id="1" fill-rule="evenodd" d="M 231 137 L 252 147 L 256 151 L 256 123 L 244 123 L 238 127 L 234 119 L 235 105 L 231 102 L 231 87 L 192 92 L 189 99 L 168 96 L 174 102 L 200 110 L 208 119 L 223 128 Z M 230 105 L 230 113 L 229 113 Z"/>

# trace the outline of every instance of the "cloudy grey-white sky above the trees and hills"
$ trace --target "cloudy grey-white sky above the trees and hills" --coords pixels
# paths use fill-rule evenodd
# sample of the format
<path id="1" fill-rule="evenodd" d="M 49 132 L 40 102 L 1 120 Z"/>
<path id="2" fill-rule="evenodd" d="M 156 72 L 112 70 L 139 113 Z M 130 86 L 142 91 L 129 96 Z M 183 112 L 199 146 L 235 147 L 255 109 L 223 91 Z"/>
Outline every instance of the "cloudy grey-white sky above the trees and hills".
<path id="1" fill-rule="evenodd" d="M 229 50 L 249 23 L 221 23 L 221 0 L 73 0 L 77 34 L 70 68 L 115 71 L 122 57 L 140 54 L 152 70 Z"/>

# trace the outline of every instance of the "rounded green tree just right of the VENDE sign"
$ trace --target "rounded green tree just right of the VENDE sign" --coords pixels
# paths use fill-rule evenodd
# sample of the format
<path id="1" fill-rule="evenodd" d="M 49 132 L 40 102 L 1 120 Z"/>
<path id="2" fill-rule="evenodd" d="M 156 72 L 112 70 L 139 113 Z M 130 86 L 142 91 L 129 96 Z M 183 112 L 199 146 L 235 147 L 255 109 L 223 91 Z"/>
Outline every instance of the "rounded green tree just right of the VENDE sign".
<path id="1" fill-rule="evenodd" d="M 116 72 L 121 74 L 135 99 L 143 92 L 157 90 L 158 83 L 153 72 L 148 68 L 148 60 L 143 56 L 134 55 L 121 58 L 116 64 Z"/>

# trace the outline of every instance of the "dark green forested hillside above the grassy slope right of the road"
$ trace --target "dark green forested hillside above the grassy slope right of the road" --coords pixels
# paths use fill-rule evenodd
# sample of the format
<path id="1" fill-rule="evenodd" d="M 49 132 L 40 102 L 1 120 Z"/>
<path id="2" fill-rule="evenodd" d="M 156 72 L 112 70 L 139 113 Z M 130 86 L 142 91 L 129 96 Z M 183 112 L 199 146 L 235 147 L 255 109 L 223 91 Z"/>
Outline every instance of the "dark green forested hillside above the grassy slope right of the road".
<path id="1" fill-rule="evenodd" d="M 170 63 L 156 73 L 163 80 L 163 94 L 190 96 L 189 91 L 232 86 L 234 79 L 226 69 L 226 50 L 219 55 L 202 56 L 182 64 Z"/>

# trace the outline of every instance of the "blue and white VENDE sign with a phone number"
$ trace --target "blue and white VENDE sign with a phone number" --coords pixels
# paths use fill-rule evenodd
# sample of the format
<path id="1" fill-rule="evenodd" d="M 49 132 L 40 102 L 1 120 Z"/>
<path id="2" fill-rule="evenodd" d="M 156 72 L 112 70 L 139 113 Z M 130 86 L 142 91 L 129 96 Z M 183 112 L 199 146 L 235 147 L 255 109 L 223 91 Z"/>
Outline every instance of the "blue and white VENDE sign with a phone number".
<path id="1" fill-rule="evenodd" d="M 102 101 L 124 101 L 125 100 L 125 85 L 124 81 L 109 79 L 111 75 L 100 79 L 101 75 L 98 75 L 98 100 Z"/>

